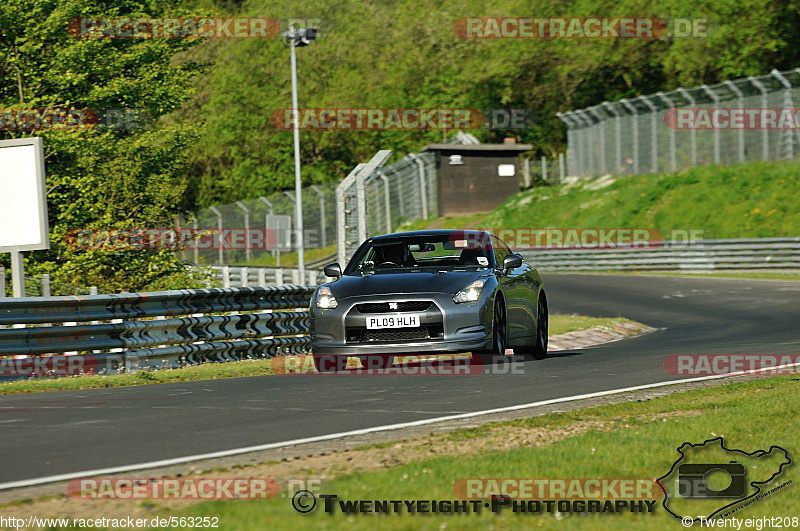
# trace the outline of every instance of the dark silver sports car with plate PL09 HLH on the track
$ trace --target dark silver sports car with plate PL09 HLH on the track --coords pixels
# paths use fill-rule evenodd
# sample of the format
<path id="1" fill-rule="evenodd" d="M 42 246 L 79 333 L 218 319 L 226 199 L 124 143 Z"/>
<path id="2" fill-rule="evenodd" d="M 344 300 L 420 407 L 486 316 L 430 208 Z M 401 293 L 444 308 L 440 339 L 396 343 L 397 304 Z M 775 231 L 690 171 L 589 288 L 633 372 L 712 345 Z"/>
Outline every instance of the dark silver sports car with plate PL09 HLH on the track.
<path id="1" fill-rule="evenodd" d="M 547 355 L 547 297 L 539 273 L 496 236 L 425 230 L 375 236 L 311 299 L 314 363 L 348 357 L 387 367 L 395 355 Z"/>

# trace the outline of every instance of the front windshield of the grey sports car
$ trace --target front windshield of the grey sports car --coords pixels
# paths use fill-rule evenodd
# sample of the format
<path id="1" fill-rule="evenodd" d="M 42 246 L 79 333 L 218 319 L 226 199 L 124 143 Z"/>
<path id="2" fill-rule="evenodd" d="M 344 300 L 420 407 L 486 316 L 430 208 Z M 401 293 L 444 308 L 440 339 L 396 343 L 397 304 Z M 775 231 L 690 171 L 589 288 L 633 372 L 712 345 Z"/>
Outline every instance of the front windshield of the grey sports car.
<path id="1" fill-rule="evenodd" d="M 486 245 L 449 235 L 415 236 L 368 240 L 350 261 L 345 274 L 488 267 L 492 267 L 492 258 Z"/>

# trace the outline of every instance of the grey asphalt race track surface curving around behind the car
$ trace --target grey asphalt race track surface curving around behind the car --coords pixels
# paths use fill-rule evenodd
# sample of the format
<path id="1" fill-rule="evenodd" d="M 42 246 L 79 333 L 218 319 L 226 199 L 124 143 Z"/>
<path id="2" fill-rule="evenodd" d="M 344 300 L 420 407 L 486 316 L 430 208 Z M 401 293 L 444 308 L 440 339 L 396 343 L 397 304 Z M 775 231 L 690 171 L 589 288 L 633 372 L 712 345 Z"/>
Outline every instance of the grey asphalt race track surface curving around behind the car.
<path id="1" fill-rule="evenodd" d="M 0 483 L 678 380 L 670 354 L 800 354 L 800 282 L 544 275 L 551 312 L 663 328 L 524 374 L 264 376 L 0 397 Z"/>

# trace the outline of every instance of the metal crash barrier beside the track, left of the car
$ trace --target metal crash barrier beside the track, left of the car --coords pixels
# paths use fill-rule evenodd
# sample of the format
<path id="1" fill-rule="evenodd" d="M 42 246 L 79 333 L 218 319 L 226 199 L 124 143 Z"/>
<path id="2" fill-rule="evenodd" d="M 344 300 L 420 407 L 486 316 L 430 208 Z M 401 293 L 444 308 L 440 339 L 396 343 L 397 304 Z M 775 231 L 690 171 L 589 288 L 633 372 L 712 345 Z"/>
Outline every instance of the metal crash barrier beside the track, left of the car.
<path id="1" fill-rule="evenodd" d="M 313 287 L 0 299 L 0 376 L 80 354 L 97 372 L 299 354 Z M 51 375 L 58 376 L 53 373 Z M 24 376 L 24 375 L 23 375 Z"/>

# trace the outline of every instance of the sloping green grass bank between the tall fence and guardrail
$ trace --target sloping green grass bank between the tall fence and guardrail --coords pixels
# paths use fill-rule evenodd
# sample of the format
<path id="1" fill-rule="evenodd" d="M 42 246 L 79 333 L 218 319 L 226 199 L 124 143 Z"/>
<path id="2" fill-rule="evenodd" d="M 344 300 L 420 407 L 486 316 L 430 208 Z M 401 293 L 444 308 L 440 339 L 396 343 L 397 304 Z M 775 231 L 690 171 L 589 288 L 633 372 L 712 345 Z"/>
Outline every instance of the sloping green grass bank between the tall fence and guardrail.
<path id="1" fill-rule="evenodd" d="M 409 223 L 440 228 L 699 229 L 703 238 L 800 235 L 800 163 L 753 162 L 669 175 L 580 180 L 537 187 L 493 212 Z M 600 188 L 601 184 L 608 184 Z"/>

